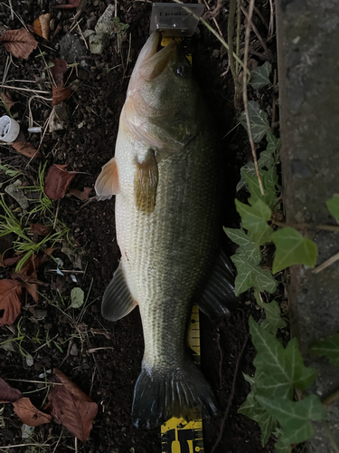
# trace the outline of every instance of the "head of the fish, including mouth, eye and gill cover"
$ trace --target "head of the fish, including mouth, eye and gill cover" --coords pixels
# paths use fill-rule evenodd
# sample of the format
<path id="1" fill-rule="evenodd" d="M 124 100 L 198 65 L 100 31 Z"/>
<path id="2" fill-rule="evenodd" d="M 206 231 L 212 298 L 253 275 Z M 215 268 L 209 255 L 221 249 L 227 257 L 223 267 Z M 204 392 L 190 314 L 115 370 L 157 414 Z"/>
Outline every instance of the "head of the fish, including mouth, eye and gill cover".
<path id="1" fill-rule="evenodd" d="M 127 122 L 137 137 L 161 152 L 182 149 L 198 130 L 199 89 L 191 64 L 175 41 L 161 48 L 155 32 L 140 52 L 127 91 Z"/>

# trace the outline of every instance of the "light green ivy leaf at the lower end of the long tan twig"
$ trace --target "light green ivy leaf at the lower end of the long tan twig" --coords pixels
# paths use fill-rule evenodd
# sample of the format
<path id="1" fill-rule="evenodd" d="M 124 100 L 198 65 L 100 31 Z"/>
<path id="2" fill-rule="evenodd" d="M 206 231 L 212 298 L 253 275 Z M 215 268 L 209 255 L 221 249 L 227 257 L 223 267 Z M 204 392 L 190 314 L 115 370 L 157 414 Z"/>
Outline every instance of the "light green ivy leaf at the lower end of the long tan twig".
<path id="1" fill-rule="evenodd" d="M 236 199 L 235 206 L 240 214 L 242 226 L 249 230 L 250 240 L 256 246 L 268 242 L 273 233 L 272 227 L 268 226 L 268 220 L 272 215 L 268 205 L 258 199 L 252 206 L 249 206 Z"/>

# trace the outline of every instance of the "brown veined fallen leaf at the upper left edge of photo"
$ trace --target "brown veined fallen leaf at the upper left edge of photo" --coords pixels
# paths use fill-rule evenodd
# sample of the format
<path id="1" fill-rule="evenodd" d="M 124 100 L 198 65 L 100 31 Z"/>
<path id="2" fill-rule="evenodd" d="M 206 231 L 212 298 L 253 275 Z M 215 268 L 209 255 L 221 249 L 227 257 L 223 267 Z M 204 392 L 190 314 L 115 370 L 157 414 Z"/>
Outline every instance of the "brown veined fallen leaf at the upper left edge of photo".
<path id="1" fill-rule="evenodd" d="M 4 43 L 7 52 L 12 53 L 16 58 L 24 58 L 25 60 L 38 45 L 32 34 L 27 32 L 25 28 L 5 31 L 0 35 L 0 41 Z"/>

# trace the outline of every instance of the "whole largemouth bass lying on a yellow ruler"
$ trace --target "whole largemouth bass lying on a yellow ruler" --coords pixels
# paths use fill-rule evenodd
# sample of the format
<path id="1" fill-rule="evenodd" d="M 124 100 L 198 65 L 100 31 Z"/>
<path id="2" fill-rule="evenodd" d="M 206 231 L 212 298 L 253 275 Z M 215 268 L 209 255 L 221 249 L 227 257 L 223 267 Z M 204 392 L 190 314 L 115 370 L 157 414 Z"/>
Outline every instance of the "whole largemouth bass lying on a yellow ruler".
<path id="1" fill-rule="evenodd" d="M 145 352 L 132 419 L 218 411 L 212 388 L 185 345 L 192 304 L 210 316 L 236 304 L 231 264 L 218 246 L 220 197 L 212 121 L 176 41 L 147 39 L 120 114 L 115 156 L 101 169 L 97 198 L 116 196 L 121 259 L 101 313 L 118 321 L 137 305 Z"/>

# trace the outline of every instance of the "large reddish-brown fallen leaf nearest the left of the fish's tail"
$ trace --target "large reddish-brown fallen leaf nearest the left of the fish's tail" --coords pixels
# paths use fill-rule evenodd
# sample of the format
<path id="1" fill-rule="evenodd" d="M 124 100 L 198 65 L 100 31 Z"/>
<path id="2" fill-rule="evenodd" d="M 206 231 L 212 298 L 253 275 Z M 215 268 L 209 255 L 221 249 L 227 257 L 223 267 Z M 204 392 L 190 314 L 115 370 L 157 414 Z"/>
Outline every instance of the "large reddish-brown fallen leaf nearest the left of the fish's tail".
<path id="1" fill-rule="evenodd" d="M 62 385 L 54 385 L 48 395 L 52 416 L 57 423 L 82 442 L 89 439 L 92 421 L 98 413 L 98 404 L 74 384 L 62 371 L 54 369 L 54 379 Z"/>

